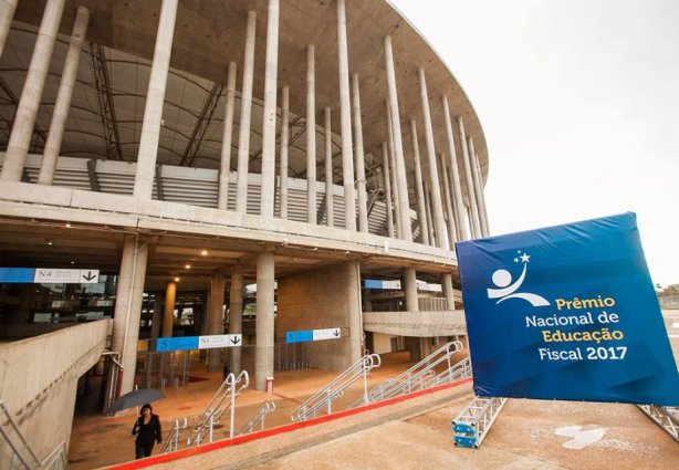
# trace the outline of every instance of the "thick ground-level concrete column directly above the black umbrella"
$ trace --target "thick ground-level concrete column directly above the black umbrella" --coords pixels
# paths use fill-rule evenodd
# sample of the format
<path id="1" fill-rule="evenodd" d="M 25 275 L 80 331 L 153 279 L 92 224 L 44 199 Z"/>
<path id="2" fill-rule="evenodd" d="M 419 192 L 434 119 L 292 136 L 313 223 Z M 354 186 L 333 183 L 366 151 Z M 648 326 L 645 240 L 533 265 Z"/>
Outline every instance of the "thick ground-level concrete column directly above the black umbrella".
<path id="1" fill-rule="evenodd" d="M 121 353 L 123 364 L 118 376 L 119 395 L 132 391 L 135 383 L 147 259 L 148 241 L 137 236 L 125 236 L 111 341 L 111 349 Z"/>

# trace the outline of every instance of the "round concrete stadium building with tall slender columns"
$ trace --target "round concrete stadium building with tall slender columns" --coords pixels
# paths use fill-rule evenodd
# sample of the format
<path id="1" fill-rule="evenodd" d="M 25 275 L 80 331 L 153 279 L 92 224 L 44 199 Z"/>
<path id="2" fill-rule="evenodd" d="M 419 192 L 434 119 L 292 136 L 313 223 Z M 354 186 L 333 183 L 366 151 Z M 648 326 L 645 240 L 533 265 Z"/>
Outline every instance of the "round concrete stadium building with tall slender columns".
<path id="1" fill-rule="evenodd" d="M 0 53 L 1 267 L 98 271 L 2 278 L 0 333 L 29 340 L 0 349 L 0 398 L 27 432 L 67 437 L 104 352 L 132 390 L 140 337 L 242 333 L 228 361 L 263 390 L 289 332 L 340 328 L 304 346 L 336 370 L 464 334 L 485 140 L 388 2 L 0 0 Z"/>

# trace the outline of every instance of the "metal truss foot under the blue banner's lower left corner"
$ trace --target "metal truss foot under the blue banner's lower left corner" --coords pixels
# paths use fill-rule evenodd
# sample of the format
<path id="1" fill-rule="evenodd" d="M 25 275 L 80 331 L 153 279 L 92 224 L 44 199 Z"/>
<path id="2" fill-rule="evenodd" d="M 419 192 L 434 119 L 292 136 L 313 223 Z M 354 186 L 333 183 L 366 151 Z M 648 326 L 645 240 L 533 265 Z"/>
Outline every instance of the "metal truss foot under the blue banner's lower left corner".
<path id="1" fill-rule="evenodd" d="M 505 403 L 506 398 L 474 397 L 452 420 L 455 445 L 478 449 Z"/>

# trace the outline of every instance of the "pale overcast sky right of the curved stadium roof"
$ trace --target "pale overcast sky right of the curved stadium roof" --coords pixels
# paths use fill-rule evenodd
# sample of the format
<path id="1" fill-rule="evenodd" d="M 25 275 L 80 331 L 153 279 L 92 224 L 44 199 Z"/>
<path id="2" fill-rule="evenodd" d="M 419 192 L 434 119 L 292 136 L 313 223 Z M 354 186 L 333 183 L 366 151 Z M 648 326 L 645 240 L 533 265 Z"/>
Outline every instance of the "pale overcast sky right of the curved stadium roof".
<path id="1" fill-rule="evenodd" d="M 633 211 L 679 283 L 679 1 L 390 1 L 479 115 L 491 234 Z"/>

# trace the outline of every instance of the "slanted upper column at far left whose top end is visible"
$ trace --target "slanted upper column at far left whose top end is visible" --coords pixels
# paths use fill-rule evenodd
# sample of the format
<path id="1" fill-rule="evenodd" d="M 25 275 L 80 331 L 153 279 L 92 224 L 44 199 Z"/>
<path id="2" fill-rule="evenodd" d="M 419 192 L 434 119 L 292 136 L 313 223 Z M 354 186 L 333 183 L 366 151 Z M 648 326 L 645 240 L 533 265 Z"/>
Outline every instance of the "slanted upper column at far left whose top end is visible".
<path id="1" fill-rule="evenodd" d="M 85 7 L 79 7 L 73 23 L 73 32 L 69 42 L 69 52 L 64 61 L 64 70 L 59 82 L 59 92 L 56 93 L 56 102 L 52 112 L 52 122 L 50 123 L 50 133 L 45 143 L 44 153 L 42 156 L 42 165 L 38 175 L 39 185 L 51 185 L 54 180 L 54 170 L 56 169 L 56 158 L 61 150 L 61 142 L 66 127 L 66 118 L 69 117 L 69 108 L 71 107 L 71 97 L 73 96 L 73 86 L 77 75 L 77 64 L 80 62 L 80 53 L 83 49 L 83 41 L 87 34 L 87 23 L 90 22 L 90 10 Z"/>

